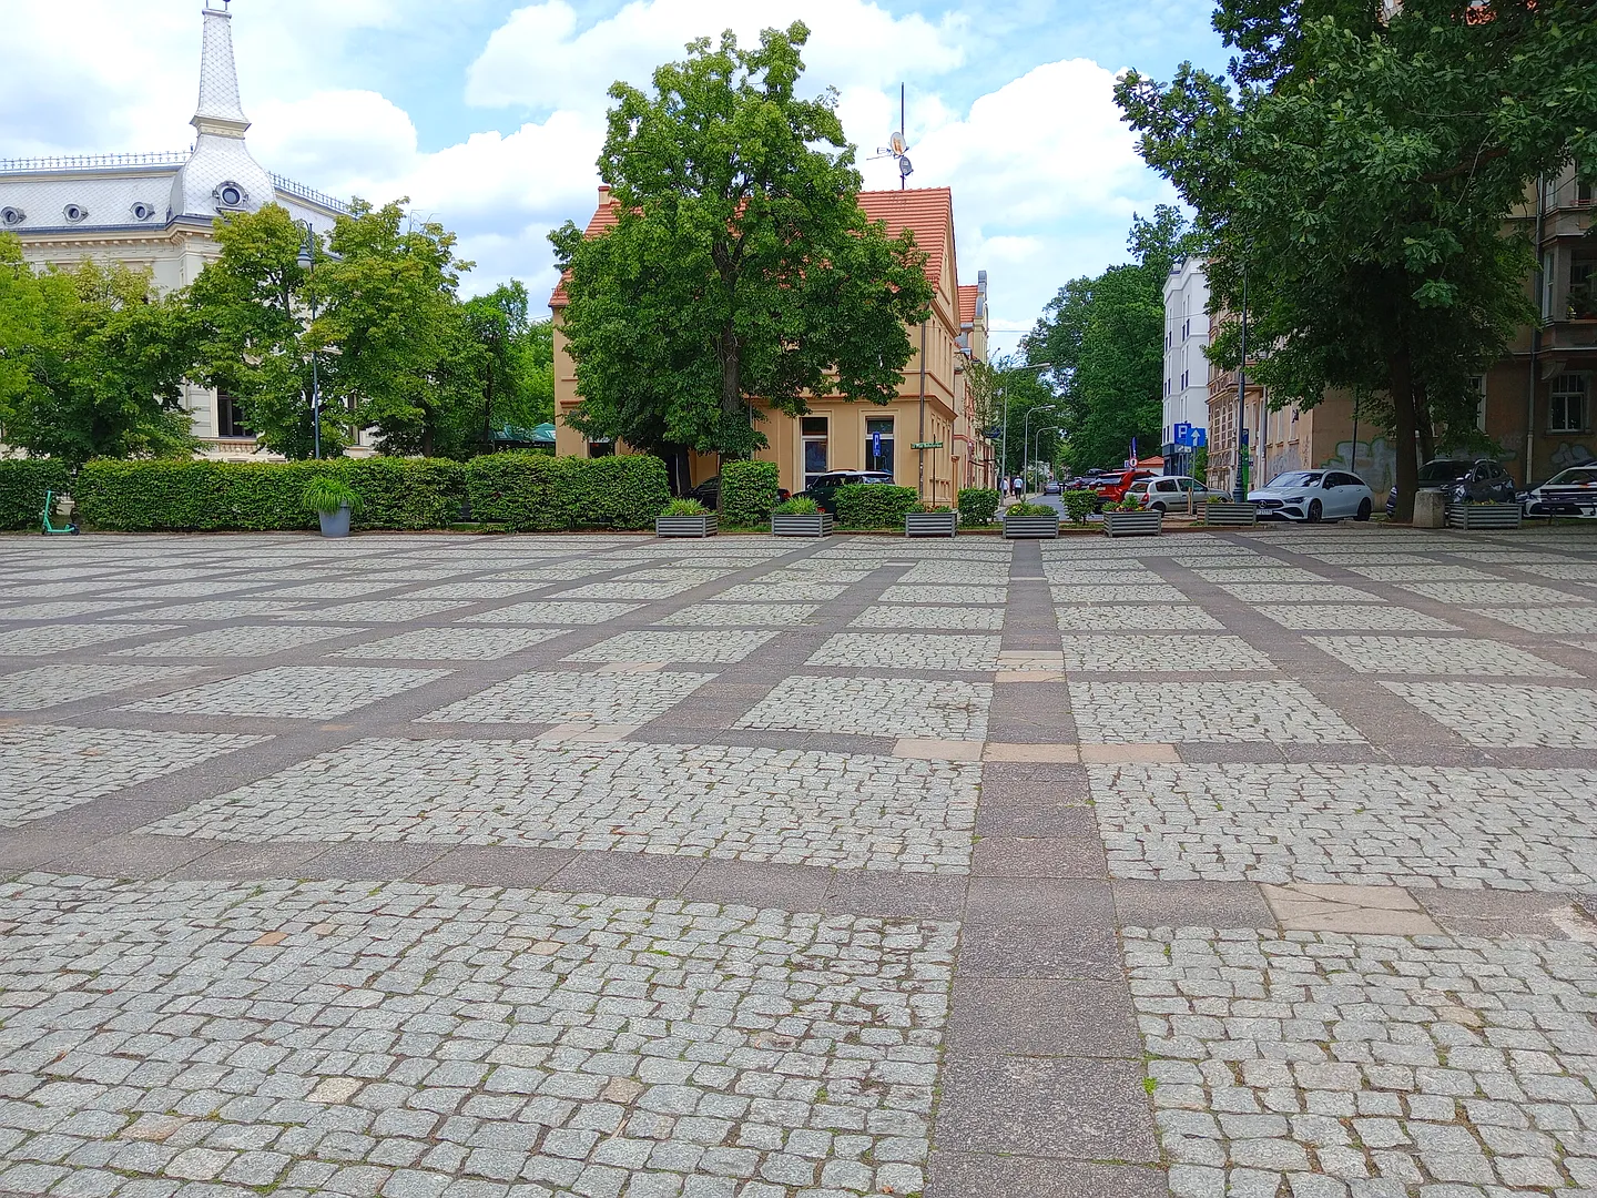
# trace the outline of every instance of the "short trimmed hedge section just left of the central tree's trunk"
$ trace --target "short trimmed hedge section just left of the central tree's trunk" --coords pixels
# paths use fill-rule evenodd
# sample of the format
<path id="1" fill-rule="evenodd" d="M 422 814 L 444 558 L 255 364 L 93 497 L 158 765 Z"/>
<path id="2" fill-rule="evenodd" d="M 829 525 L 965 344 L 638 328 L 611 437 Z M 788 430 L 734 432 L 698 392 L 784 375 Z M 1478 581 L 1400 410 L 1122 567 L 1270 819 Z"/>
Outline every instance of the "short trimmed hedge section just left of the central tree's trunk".
<path id="1" fill-rule="evenodd" d="M 466 463 L 474 519 L 511 532 L 652 529 L 671 502 L 658 457 L 549 457 L 489 454 Z"/>

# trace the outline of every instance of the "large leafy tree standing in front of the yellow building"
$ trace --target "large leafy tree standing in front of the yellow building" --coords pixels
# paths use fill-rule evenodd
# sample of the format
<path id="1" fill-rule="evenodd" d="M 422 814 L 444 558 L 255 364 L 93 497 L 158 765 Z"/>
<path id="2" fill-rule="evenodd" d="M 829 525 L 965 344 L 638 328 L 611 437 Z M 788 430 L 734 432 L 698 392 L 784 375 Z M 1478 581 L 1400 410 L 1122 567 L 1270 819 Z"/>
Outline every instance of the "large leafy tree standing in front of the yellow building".
<path id="1" fill-rule="evenodd" d="M 610 88 L 599 169 L 616 224 L 551 235 L 583 431 L 741 455 L 765 444 L 760 404 L 898 395 L 904 326 L 931 302 L 925 257 L 861 211 L 835 93 L 797 96 L 808 35 L 701 38 L 653 94 Z"/>

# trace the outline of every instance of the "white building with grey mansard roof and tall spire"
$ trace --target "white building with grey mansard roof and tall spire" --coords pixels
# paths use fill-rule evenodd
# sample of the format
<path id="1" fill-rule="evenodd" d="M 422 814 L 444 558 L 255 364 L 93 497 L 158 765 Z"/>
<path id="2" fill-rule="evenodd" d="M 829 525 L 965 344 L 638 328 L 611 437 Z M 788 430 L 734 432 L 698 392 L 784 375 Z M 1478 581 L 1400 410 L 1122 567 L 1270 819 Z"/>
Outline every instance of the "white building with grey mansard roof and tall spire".
<path id="1" fill-rule="evenodd" d="M 251 157 L 244 142 L 249 118 L 233 65 L 233 18 L 227 0 L 222 5 L 206 0 L 201 10 L 200 102 L 188 150 L 0 158 L 0 230 L 21 238 L 24 257 L 37 268 L 85 259 L 121 262 L 149 270 L 158 289 L 176 291 L 220 252 L 219 216 L 278 203 L 326 233 L 350 211 Z M 230 396 L 190 387 L 184 403 L 211 455 L 256 452 Z"/>

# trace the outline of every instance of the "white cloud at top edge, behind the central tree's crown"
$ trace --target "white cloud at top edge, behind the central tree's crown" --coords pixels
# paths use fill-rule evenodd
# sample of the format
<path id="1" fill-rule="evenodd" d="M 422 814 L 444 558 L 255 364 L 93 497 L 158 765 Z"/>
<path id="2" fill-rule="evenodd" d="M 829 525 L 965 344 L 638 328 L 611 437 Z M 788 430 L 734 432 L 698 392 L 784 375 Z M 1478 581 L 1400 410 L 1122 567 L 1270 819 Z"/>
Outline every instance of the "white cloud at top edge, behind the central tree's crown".
<path id="1" fill-rule="evenodd" d="M 466 99 L 530 109 L 602 104 L 615 80 L 645 86 L 660 62 L 680 59 L 696 37 L 731 29 L 754 45 L 760 29 L 800 19 L 811 30 L 808 78 L 837 88 L 882 88 L 909 70 L 926 78 L 965 61 L 963 18 L 894 18 L 864 0 L 634 0 L 586 29 L 567 0 L 548 0 L 516 10 L 493 32 L 466 75 Z"/>

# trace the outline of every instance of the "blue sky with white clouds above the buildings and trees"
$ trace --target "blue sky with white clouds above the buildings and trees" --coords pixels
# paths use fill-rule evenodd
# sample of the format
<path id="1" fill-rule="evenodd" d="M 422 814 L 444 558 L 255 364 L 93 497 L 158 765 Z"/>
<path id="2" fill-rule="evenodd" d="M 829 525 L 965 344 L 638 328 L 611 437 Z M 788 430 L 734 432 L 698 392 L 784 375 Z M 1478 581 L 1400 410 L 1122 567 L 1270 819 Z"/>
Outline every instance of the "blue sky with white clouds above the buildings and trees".
<path id="1" fill-rule="evenodd" d="M 180 149 L 198 72 L 195 0 L 0 0 L 0 155 Z M 553 283 L 545 233 L 592 211 L 604 89 L 698 35 L 803 19 L 814 86 L 835 85 L 864 158 L 909 86 L 913 185 L 955 192 L 963 281 L 985 268 L 1000 326 L 1121 260 L 1134 211 L 1171 192 L 1132 152 L 1110 88 L 1134 65 L 1225 61 L 1211 0 L 235 0 L 249 144 L 339 195 L 409 195 L 462 235 L 471 289 Z M 894 185 L 891 161 L 862 163 Z M 1000 337 L 1008 348 L 1014 337 Z"/>

